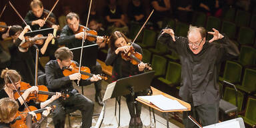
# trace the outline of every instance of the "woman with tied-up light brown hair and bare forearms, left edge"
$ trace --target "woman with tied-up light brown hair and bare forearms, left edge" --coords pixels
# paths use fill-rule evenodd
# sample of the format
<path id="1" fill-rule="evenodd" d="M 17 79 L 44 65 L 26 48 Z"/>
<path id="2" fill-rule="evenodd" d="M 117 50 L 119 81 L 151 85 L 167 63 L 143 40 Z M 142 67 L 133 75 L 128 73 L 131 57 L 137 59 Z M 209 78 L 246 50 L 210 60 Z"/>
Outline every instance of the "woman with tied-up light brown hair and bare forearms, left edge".
<path id="1" fill-rule="evenodd" d="M 13 91 L 15 91 L 15 87 L 13 87 L 13 84 L 11 83 L 11 80 L 9 79 L 7 74 L 9 75 L 9 77 L 11 78 L 11 80 L 13 81 L 17 89 L 21 87 L 21 75 L 19 75 L 17 71 L 12 69 L 4 69 L 1 73 L 1 78 L 5 80 L 5 85 L 1 87 L 0 99 L 4 97 L 9 97 L 10 99 L 14 100 L 15 98 L 14 98 Z M 29 97 L 29 94 L 35 91 L 37 91 L 37 93 L 39 91 L 37 86 L 32 86 L 29 89 L 25 90 L 24 93 L 22 94 L 23 99 L 26 100 L 27 97 Z M 27 104 L 33 105 L 37 107 L 37 109 L 41 109 L 49 105 L 49 103 L 51 103 L 52 101 L 55 101 L 55 99 L 58 99 L 60 96 L 61 96 L 61 93 L 56 93 L 56 95 L 53 95 L 50 99 L 42 103 L 35 103 L 33 100 L 30 100 Z M 18 99 L 16 99 L 17 103 L 19 104 L 19 111 L 23 111 L 23 109 L 25 108 L 25 105 L 23 105 L 24 101 L 22 97 L 19 97 Z"/>

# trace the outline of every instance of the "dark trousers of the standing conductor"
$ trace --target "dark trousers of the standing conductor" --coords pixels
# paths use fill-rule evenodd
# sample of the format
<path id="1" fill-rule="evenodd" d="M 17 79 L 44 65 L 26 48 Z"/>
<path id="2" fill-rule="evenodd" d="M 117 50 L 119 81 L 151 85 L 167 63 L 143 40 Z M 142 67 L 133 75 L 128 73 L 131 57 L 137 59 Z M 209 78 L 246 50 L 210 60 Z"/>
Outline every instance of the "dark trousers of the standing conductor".
<path id="1" fill-rule="evenodd" d="M 219 121 L 219 102 L 207 105 L 194 106 L 190 103 L 191 111 L 183 111 L 183 124 L 185 128 L 195 127 L 197 125 L 193 123 L 187 116 L 191 115 L 202 126 L 212 125 Z"/>

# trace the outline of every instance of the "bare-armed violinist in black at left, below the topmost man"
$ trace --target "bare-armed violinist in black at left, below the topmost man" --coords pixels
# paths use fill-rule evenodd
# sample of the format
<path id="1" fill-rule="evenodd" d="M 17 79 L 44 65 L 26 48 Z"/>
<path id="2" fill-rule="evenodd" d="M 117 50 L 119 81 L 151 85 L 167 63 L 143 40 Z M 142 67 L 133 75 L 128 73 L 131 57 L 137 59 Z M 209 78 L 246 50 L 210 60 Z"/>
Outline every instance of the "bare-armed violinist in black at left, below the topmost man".
<path id="1" fill-rule="evenodd" d="M 19 25 L 13 25 L 9 31 L 9 35 L 13 39 L 13 45 L 9 47 L 9 51 L 11 53 L 10 69 L 17 70 L 21 73 L 24 81 L 33 85 L 35 83 L 35 47 L 29 47 L 27 49 L 20 47 L 20 45 L 25 41 L 24 34 L 29 31 L 29 28 L 29 26 L 26 26 L 22 29 Z M 53 35 L 49 34 L 49 37 L 45 40 L 43 48 L 40 49 L 39 53 L 45 53 L 45 49 L 47 49 L 47 45 L 51 39 L 53 39 Z M 44 74 L 43 68 L 39 67 L 38 74 Z"/>

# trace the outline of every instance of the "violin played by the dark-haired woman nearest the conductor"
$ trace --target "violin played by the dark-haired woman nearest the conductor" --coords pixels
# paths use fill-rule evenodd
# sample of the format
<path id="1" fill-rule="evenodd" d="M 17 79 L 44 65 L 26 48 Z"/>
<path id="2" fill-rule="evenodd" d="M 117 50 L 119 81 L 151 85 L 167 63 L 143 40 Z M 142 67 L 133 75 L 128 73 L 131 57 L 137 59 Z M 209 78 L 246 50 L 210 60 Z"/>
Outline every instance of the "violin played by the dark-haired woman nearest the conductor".
<path id="1" fill-rule="evenodd" d="M 133 65 L 139 65 L 142 61 L 142 55 L 141 53 L 135 52 L 134 47 L 130 47 L 129 51 L 127 53 L 122 52 L 121 57 L 125 59 L 125 61 L 131 61 Z M 148 63 L 145 63 L 146 68 L 149 70 L 152 70 L 151 65 Z"/>

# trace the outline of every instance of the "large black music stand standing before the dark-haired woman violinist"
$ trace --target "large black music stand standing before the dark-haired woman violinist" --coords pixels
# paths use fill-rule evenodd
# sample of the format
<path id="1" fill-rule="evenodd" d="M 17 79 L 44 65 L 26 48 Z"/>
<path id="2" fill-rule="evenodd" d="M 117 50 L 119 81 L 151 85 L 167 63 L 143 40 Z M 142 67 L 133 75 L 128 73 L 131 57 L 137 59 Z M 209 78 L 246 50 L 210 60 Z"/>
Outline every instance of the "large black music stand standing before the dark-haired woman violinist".
<path id="1" fill-rule="evenodd" d="M 149 71 L 146 73 L 141 73 L 138 75 L 133 75 L 131 77 L 125 77 L 122 79 L 118 79 L 114 83 L 110 83 L 107 86 L 107 90 L 103 97 L 103 101 L 105 102 L 109 98 L 117 98 L 119 97 L 119 122 L 118 126 L 120 126 L 120 110 L 121 110 L 121 101 L 120 97 L 123 95 L 131 94 L 134 96 L 134 93 L 143 91 L 148 89 L 151 85 L 151 81 L 155 75 L 155 71 Z M 115 102 L 115 110 L 117 109 L 117 101 Z M 116 115 L 116 113 L 115 113 Z"/>

